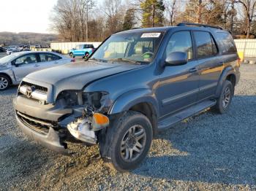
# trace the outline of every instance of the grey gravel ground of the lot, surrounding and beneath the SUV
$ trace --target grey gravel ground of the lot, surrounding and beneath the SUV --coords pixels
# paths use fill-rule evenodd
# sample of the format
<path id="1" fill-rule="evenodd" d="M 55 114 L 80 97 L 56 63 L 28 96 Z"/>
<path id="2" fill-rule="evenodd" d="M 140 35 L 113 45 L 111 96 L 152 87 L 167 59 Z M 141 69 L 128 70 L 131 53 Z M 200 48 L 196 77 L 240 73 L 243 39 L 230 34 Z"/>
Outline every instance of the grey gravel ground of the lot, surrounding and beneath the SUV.
<path id="1" fill-rule="evenodd" d="M 0 93 L 0 190 L 256 190 L 256 66 L 241 67 L 227 114 L 204 112 L 166 130 L 130 173 L 108 168 L 98 147 L 57 155 L 24 138 L 12 98 Z"/>

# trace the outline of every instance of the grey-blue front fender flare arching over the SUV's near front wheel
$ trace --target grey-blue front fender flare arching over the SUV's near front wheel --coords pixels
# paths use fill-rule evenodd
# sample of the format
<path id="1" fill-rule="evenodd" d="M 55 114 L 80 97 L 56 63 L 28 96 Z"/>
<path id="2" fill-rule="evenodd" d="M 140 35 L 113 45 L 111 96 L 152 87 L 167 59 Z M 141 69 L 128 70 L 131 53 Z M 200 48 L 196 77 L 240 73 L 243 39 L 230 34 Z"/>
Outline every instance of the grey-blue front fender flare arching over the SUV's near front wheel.
<path id="1" fill-rule="evenodd" d="M 154 93 L 149 89 L 137 89 L 132 90 L 127 93 L 120 95 L 113 105 L 110 107 L 108 114 L 118 114 L 129 110 L 132 106 L 140 103 L 151 104 L 156 112 L 157 117 L 159 117 L 159 104 Z"/>

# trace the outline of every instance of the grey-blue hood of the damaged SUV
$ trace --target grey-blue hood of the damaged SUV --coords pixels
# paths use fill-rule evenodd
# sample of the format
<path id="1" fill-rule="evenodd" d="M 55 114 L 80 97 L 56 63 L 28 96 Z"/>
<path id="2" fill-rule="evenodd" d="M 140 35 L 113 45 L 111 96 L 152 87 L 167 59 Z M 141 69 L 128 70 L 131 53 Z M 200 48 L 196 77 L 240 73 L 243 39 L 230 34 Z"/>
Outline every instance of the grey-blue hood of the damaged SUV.
<path id="1" fill-rule="evenodd" d="M 83 61 L 33 72 L 27 75 L 24 81 L 29 79 L 30 82 L 44 82 L 53 85 L 54 91 L 58 95 L 62 90 L 82 90 L 85 85 L 102 77 L 143 66 L 145 65 Z"/>

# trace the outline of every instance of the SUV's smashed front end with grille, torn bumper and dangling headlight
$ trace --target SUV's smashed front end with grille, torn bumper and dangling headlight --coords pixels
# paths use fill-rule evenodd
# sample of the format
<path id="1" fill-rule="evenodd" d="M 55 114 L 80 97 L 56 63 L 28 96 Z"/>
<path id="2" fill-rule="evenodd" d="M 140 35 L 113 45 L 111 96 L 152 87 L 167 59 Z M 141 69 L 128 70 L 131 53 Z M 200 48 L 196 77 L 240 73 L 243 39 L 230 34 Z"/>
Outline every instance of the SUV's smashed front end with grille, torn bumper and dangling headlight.
<path id="1" fill-rule="evenodd" d="M 23 133 L 53 151 L 67 154 L 67 142 L 97 144 L 99 130 L 109 124 L 108 93 L 64 90 L 53 98 L 53 87 L 21 82 L 13 101 Z"/>

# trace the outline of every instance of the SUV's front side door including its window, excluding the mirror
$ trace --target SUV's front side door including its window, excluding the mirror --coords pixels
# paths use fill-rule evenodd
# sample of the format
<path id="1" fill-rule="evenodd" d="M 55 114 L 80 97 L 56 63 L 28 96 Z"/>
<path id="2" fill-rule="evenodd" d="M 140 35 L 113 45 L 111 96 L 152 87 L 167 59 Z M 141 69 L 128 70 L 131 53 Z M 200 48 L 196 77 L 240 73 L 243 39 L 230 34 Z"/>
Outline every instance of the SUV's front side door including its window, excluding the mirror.
<path id="1" fill-rule="evenodd" d="M 157 98 L 162 105 L 162 117 L 195 104 L 199 92 L 197 61 L 190 31 L 178 31 L 170 37 L 165 58 L 171 52 L 186 52 L 188 62 L 181 66 L 165 66 L 159 75 Z"/>

